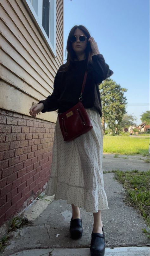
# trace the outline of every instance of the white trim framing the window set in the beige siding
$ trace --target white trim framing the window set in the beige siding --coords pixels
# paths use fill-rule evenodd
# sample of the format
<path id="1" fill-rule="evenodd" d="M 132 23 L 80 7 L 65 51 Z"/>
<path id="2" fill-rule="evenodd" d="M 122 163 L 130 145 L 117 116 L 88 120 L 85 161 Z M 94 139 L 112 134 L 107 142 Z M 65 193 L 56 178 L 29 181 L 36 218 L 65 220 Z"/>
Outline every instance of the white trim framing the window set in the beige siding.
<path id="1" fill-rule="evenodd" d="M 43 0 L 37 0 L 38 4 L 42 6 Z M 34 8 L 29 0 L 23 1 L 27 7 L 32 18 L 36 22 L 36 25 L 41 32 L 43 39 L 45 40 L 47 46 L 49 47 L 52 55 L 56 58 L 56 0 L 50 0 L 50 39 L 48 38 L 44 28 L 42 27 L 42 21 L 38 18 Z M 38 8 L 39 13 L 39 8 Z"/>

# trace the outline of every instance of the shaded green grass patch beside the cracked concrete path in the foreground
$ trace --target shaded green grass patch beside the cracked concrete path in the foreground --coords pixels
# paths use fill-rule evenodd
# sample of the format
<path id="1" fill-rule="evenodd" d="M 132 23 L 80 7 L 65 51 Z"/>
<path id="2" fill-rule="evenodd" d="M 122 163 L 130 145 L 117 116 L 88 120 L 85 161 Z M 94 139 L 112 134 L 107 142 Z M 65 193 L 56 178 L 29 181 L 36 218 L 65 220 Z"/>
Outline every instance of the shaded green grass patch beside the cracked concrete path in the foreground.
<path id="1" fill-rule="evenodd" d="M 122 172 L 117 170 L 114 178 L 124 184 L 128 204 L 139 210 L 146 224 L 150 225 L 150 171 Z M 146 232 L 145 230 L 143 230 Z"/>

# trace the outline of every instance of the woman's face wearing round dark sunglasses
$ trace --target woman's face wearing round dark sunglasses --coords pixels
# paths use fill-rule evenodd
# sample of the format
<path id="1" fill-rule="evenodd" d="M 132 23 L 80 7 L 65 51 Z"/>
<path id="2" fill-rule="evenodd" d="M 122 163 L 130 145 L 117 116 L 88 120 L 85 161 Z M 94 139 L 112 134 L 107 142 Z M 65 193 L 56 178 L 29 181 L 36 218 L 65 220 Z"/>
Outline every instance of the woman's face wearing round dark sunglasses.
<path id="1" fill-rule="evenodd" d="M 84 53 L 87 45 L 87 39 L 85 39 L 84 42 L 81 42 L 79 40 L 79 36 L 81 35 L 86 36 L 86 35 L 82 30 L 78 28 L 75 30 L 73 35 L 77 37 L 77 40 L 74 43 L 72 43 L 72 49 L 75 51 L 77 55 Z"/>

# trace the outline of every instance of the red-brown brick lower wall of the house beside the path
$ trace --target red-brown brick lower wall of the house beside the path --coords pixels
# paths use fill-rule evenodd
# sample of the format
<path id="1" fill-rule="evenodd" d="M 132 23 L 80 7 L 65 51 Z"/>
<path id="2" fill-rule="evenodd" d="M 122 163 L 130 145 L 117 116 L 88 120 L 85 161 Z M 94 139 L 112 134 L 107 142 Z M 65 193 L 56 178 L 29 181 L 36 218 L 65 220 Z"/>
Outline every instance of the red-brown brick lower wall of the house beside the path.
<path id="1" fill-rule="evenodd" d="M 54 123 L 0 110 L 0 226 L 44 190 L 54 128 Z"/>

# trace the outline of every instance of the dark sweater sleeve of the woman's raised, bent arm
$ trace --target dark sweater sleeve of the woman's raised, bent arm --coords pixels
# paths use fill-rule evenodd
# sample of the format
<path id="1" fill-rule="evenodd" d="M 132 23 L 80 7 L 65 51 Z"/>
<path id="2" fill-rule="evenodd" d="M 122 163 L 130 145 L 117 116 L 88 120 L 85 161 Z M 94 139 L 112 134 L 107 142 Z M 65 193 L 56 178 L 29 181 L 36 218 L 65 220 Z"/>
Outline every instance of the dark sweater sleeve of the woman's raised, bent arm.
<path id="1" fill-rule="evenodd" d="M 96 83 L 101 83 L 103 80 L 113 75 L 114 72 L 109 69 L 109 65 L 105 62 L 102 54 L 93 55 L 92 60 L 92 74 Z"/>

